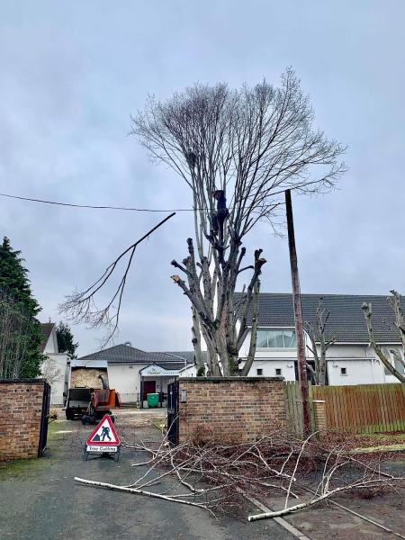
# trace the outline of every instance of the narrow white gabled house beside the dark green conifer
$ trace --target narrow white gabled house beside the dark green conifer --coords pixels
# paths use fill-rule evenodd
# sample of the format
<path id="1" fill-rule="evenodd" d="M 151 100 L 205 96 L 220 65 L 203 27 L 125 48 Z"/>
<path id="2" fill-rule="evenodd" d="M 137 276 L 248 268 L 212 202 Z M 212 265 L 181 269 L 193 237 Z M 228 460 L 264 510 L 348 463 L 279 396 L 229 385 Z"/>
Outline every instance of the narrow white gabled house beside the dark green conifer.
<path id="1" fill-rule="evenodd" d="M 58 352 L 56 324 L 43 322 L 40 326 L 42 329 L 40 352 L 46 356 L 40 368 L 41 375 L 50 384 L 50 404 L 63 405 L 63 393 L 66 392 L 67 353 Z"/>

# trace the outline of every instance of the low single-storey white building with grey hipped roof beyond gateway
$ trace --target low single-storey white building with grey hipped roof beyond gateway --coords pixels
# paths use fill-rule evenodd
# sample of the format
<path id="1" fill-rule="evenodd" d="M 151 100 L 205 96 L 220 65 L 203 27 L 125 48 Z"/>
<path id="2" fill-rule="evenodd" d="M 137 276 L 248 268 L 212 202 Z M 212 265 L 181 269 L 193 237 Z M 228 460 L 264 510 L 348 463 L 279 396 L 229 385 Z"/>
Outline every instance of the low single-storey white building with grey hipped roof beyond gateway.
<path id="1" fill-rule="evenodd" d="M 81 366 L 105 362 L 110 388 L 120 392 L 123 403 L 140 405 L 150 392 L 167 392 L 167 383 L 175 376 L 195 376 L 194 354 L 182 352 L 147 352 L 121 344 L 82 356 Z"/>

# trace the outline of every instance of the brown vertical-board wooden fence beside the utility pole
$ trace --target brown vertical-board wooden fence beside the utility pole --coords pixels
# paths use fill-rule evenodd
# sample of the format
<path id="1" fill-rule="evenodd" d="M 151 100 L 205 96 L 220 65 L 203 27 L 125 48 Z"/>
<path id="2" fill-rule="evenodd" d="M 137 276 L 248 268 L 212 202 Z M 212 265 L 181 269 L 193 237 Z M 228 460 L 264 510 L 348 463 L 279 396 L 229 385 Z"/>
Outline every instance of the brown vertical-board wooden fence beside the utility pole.
<path id="1" fill-rule="evenodd" d="M 302 434 L 302 400 L 298 383 L 285 383 L 287 418 Z M 313 400 L 324 400 L 328 429 L 352 433 L 405 431 L 405 384 L 359 384 L 354 386 L 310 385 Z"/>

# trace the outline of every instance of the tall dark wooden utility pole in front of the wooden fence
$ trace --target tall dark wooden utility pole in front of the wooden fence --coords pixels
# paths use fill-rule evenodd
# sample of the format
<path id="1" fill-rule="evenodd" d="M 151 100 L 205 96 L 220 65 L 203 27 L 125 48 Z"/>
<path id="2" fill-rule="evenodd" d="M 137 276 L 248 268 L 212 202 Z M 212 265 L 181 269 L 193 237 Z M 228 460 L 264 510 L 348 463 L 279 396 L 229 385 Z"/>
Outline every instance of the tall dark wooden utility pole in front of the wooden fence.
<path id="1" fill-rule="evenodd" d="M 298 380 L 302 393 L 302 414 L 304 436 L 311 432 L 310 401 L 307 379 L 307 362 L 305 359 L 305 338 L 302 326 L 302 304 L 300 291 L 300 278 L 298 275 L 297 251 L 295 249 L 293 205 L 291 202 L 291 191 L 285 191 L 285 208 L 287 213 L 288 247 L 290 249 L 291 281 L 293 284 L 293 305 L 295 318 L 295 335 L 297 338 L 297 361 Z"/>

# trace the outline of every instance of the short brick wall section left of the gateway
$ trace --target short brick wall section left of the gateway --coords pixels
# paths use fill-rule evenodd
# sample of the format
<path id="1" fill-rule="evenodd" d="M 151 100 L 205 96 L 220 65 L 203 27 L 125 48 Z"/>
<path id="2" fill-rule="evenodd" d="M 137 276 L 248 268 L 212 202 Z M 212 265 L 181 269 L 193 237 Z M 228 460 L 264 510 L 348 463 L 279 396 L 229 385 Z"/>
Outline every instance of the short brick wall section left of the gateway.
<path id="1" fill-rule="evenodd" d="M 0 461 L 37 457 L 44 382 L 0 381 Z"/>

